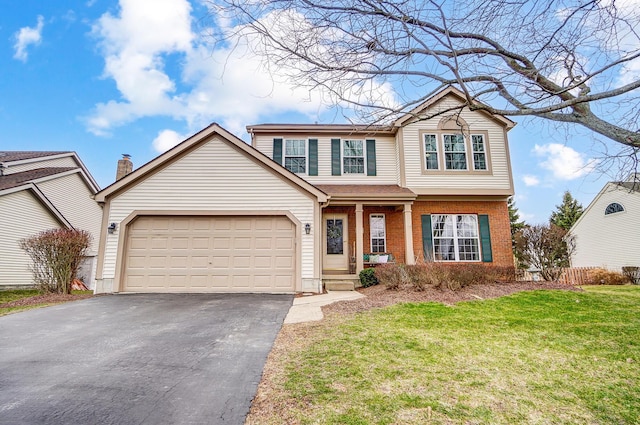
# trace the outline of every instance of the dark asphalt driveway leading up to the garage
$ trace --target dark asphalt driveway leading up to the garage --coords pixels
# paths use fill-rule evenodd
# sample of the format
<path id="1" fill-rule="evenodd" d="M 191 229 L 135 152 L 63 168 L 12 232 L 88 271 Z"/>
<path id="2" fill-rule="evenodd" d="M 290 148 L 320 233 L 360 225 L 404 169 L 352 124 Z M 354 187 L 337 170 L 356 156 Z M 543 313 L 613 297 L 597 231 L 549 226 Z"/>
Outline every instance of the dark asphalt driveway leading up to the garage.
<path id="1" fill-rule="evenodd" d="M 110 295 L 0 317 L 2 424 L 242 424 L 291 295 Z"/>

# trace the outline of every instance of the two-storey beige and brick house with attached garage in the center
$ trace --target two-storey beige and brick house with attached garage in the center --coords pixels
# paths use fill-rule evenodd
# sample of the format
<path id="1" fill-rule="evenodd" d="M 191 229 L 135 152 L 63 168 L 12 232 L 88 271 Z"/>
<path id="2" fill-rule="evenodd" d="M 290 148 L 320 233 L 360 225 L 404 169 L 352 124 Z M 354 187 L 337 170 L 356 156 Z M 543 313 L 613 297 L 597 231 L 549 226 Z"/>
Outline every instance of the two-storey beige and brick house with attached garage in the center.
<path id="1" fill-rule="evenodd" d="M 249 126 L 251 146 L 207 127 L 96 195 L 97 291 L 318 292 L 376 261 L 513 266 L 514 123 L 421 119 L 462 99 L 446 89 L 389 126 Z"/>

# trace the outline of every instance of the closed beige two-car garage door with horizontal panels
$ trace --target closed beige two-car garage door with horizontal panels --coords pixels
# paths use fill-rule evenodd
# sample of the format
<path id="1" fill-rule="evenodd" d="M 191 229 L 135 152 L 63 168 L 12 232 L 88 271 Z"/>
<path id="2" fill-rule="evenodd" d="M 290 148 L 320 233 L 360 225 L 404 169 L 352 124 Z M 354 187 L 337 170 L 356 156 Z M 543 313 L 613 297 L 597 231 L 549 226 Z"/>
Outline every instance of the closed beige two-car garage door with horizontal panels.
<path id="1" fill-rule="evenodd" d="M 153 216 L 129 224 L 123 291 L 290 292 L 287 217 Z"/>

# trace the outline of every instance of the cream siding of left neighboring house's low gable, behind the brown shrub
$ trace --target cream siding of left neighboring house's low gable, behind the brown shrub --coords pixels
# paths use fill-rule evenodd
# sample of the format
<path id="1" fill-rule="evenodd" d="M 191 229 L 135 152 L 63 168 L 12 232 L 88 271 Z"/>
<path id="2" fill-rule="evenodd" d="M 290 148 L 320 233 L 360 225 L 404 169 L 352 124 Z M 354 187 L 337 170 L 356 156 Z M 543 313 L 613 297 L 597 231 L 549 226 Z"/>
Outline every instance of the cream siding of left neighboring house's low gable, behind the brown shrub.
<path id="1" fill-rule="evenodd" d="M 63 226 L 29 190 L 0 196 L 0 286 L 32 285 L 31 260 L 21 239 Z"/>

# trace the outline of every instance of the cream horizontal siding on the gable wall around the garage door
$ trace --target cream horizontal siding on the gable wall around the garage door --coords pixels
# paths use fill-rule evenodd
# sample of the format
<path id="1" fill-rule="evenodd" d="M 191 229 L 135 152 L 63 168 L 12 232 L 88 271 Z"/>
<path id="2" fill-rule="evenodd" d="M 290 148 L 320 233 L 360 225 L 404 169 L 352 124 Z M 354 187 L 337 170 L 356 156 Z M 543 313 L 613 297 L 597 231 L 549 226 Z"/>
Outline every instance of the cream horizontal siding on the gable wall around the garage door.
<path id="1" fill-rule="evenodd" d="M 203 143 L 110 202 L 108 222 L 120 223 L 134 210 L 290 211 L 311 235 L 302 235 L 302 278 L 314 278 L 315 201 L 217 137 Z M 115 277 L 121 229 L 107 235 L 103 277 Z M 303 231 L 304 233 L 304 231 Z"/>

